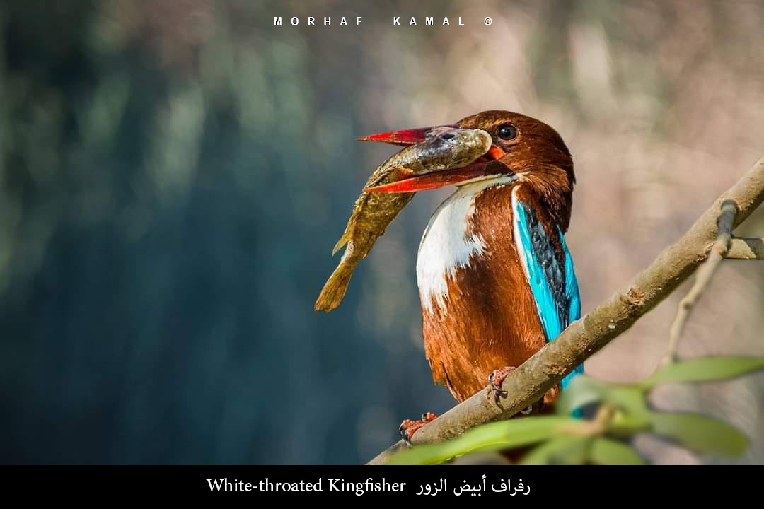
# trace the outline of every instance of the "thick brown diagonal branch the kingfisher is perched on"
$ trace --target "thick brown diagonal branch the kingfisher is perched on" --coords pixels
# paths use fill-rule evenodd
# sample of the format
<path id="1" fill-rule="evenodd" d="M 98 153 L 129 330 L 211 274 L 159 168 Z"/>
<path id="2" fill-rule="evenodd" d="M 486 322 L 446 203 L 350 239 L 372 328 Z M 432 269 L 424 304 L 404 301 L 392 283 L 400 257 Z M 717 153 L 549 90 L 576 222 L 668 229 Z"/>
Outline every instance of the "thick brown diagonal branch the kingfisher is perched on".
<path id="1" fill-rule="evenodd" d="M 668 297 L 703 262 L 717 237 L 717 218 L 725 200 L 734 201 L 738 208 L 733 227 L 761 205 L 764 201 L 764 157 L 717 198 L 684 236 L 663 250 L 628 285 L 581 320 L 573 322 L 559 337 L 508 375 L 501 385 L 507 391 L 507 397 L 500 401 L 501 406 L 494 403 L 489 388 L 485 388 L 417 430 L 413 444 L 458 437 L 479 424 L 512 417 L 541 398 L 571 369 Z M 403 447 L 403 441 L 399 441 L 371 459 L 369 464 L 384 464 L 391 454 Z"/>

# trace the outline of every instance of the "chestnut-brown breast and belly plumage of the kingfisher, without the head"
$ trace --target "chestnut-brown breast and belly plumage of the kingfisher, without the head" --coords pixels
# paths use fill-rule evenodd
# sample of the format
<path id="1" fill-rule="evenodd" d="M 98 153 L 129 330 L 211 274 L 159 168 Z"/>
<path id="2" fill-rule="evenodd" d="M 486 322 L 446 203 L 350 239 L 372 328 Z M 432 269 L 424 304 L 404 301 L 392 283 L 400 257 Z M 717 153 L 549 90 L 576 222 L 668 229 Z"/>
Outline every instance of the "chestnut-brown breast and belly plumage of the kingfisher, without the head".
<path id="1" fill-rule="evenodd" d="M 458 401 L 484 388 L 494 369 L 520 366 L 546 343 L 514 244 L 511 202 L 517 186 L 523 201 L 538 202 L 521 185 L 490 187 L 478 194 L 469 234 L 482 232 L 489 249 L 448 279 L 447 311 L 433 305 L 430 313 L 422 306 L 422 336 L 432 379 L 445 384 Z M 549 217 L 539 220 L 551 237 Z M 562 256 L 562 246 L 558 249 Z"/>

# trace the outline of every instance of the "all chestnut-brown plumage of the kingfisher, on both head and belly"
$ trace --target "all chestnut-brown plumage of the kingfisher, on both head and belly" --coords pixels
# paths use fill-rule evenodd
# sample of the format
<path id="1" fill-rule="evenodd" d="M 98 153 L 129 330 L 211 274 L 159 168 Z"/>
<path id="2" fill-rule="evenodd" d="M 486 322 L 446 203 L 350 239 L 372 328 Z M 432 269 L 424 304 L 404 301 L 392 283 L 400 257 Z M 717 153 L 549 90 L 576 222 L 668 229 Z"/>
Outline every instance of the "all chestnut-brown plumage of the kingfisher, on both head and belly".
<path id="1" fill-rule="evenodd" d="M 511 123 L 517 137 L 503 142 L 496 129 Z M 463 119 L 460 127 L 494 135 L 504 155 L 488 166 L 492 173 L 516 176 L 509 184 L 488 186 L 474 197 L 467 236 L 480 234 L 486 249 L 447 278 L 445 309 L 422 302 L 422 335 L 435 382 L 463 401 L 487 384 L 503 366 L 520 366 L 545 344 L 533 294 L 516 249 L 513 192 L 533 211 L 564 263 L 556 225 L 567 230 L 575 176 L 562 138 L 552 127 L 521 114 L 487 111 Z M 421 282 L 420 282 L 421 287 Z M 422 299 L 432 298 L 422 295 Z M 432 312 L 429 311 L 432 309 Z M 551 401 L 557 390 L 547 395 Z"/>

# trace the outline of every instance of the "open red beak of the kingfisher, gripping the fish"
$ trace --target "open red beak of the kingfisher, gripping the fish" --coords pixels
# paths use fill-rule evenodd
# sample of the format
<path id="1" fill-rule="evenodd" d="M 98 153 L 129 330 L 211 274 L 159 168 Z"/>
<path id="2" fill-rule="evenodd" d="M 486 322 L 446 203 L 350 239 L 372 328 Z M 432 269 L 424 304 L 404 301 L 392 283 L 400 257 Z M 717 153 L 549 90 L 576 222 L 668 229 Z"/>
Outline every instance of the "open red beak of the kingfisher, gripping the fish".
<path id="1" fill-rule="evenodd" d="M 393 145 L 413 145 L 414 143 L 422 142 L 426 139 L 428 134 L 437 132 L 437 130 L 459 127 L 458 124 L 434 126 L 434 127 L 418 127 L 416 129 L 403 129 L 393 130 L 388 133 L 371 134 L 358 138 L 359 141 L 382 141 L 384 143 L 392 143 Z M 490 149 L 481 156 L 474 163 L 468 164 L 461 168 L 444 169 L 436 172 L 426 173 L 412 177 L 410 179 L 402 179 L 397 182 L 390 182 L 389 184 L 377 185 L 371 188 L 364 188 L 364 192 L 416 192 L 424 191 L 426 189 L 437 189 L 444 187 L 445 185 L 454 185 L 459 182 L 466 182 L 471 179 L 476 179 L 482 176 L 489 176 L 494 174 L 494 165 L 490 163 L 495 159 L 500 159 L 504 155 L 504 151 L 496 145 L 492 145 Z M 405 176 L 402 173 L 401 176 Z"/>

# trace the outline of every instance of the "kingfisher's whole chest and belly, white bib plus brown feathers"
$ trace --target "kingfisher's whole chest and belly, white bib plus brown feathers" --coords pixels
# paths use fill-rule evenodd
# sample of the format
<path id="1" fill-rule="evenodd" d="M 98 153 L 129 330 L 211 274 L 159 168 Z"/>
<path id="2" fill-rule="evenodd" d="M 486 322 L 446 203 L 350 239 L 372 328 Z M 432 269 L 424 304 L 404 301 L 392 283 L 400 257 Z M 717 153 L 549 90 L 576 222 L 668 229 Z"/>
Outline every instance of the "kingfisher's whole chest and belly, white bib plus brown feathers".
<path id="1" fill-rule="evenodd" d="M 427 357 L 435 381 L 458 399 L 545 343 L 515 244 L 512 189 L 495 182 L 459 188 L 435 211 L 419 246 Z"/>

